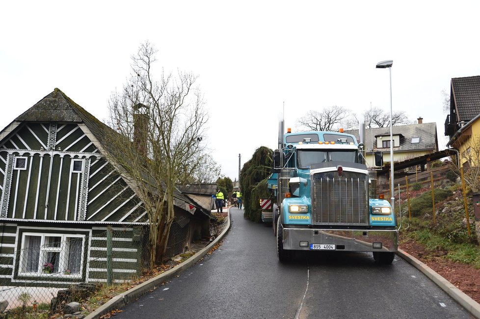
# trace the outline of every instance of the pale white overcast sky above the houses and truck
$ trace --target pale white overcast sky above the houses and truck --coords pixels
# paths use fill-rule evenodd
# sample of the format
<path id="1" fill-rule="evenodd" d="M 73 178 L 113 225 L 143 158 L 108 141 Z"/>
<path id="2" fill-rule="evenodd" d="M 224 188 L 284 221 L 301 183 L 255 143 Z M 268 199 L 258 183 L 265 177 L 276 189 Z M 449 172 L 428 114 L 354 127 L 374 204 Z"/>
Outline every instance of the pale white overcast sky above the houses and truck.
<path id="1" fill-rule="evenodd" d="M 4 1 L 0 13 L 0 127 L 55 87 L 100 120 L 142 42 L 158 72 L 199 76 L 209 147 L 238 178 L 259 146 L 275 148 L 308 110 L 393 110 L 436 122 L 442 90 L 480 75 L 480 1 Z M 394 3 L 395 2 L 395 3 Z"/>

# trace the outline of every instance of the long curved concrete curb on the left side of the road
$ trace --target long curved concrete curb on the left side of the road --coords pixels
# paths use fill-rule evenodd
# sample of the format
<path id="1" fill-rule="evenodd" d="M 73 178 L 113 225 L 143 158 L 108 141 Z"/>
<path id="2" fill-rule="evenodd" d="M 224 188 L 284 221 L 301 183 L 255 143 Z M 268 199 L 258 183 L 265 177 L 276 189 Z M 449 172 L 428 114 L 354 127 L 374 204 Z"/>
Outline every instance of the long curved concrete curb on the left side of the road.
<path id="1" fill-rule="evenodd" d="M 99 319 L 101 316 L 106 315 L 112 310 L 115 309 L 121 309 L 125 307 L 126 305 L 134 302 L 136 299 L 138 299 L 141 295 L 147 293 L 147 292 L 152 292 L 158 287 L 161 286 L 161 284 L 171 280 L 178 274 L 180 274 L 182 271 L 185 269 L 195 265 L 200 259 L 202 259 L 209 251 L 212 249 L 213 246 L 215 246 L 220 240 L 222 240 L 227 232 L 230 229 L 230 212 L 227 211 L 227 227 L 223 230 L 223 232 L 215 238 L 208 246 L 197 252 L 195 255 L 192 257 L 188 258 L 185 262 L 181 263 L 180 265 L 165 271 L 164 273 L 158 275 L 157 277 L 151 278 L 147 280 L 146 282 L 126 291 L 123 293 L 120 293 L 110 300 L 107 301 L 107 303 L 103 304 L 100 306 L 97 310 L 89 314 L 85 319 Z"/>

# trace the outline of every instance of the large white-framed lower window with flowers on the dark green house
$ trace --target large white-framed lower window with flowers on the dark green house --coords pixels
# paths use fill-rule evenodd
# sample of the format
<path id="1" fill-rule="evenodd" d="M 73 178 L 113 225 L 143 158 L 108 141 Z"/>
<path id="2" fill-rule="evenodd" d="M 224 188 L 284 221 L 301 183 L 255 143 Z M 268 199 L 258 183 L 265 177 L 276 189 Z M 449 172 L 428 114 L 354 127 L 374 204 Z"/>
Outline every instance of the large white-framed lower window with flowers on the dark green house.
<path id="1" fill-rule="evenodd" d="M 81 277 L 85 236 L 24 233 L 20 275 Z"/>

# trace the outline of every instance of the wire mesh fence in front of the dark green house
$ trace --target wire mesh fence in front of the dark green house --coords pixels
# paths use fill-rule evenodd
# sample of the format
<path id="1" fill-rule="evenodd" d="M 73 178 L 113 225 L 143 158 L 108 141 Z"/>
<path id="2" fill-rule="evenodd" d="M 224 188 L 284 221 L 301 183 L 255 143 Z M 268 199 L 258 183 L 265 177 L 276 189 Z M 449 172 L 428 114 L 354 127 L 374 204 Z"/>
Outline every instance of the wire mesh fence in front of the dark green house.
<path id="1" fill-rule="evenodd" d="M 94 228 L 87 235 L 24 232 L 19 238 L 22 248 L 0 257 L 1 270 L 10 270 L 0 277 L 0 318 L 60 312 L 63 301 L 80 301 L 102 284 L 136 281 L 150 267 L 146 227 Z M 194 238 L 190 218 L 175 218 L 165 257 L 184 253 Z"/>

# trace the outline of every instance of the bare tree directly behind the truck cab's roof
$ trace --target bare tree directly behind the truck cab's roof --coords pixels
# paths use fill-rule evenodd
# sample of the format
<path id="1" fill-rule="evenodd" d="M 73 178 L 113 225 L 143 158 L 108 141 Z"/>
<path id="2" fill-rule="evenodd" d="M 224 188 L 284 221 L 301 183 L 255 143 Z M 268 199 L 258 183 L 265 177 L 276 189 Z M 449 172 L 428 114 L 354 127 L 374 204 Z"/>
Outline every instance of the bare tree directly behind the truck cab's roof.
<path id="1" fill-rule="evenodd" d="M 343 106 L 325 107 L 321 111 L 310 110 L 298 119 L 303 127 L 311 131 L 336 131 L 348 118 L 350 110 Z"/>

